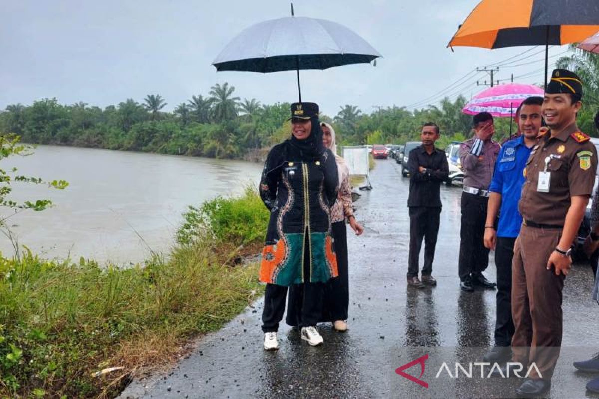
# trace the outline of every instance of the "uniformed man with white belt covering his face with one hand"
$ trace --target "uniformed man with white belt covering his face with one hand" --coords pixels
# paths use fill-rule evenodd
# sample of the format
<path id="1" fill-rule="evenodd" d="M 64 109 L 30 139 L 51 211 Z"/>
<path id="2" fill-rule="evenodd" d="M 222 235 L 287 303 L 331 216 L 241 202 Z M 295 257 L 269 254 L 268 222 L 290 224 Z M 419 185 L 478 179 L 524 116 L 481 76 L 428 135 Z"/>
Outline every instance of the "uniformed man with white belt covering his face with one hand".
<path id="1" fill-rule="evenodd" d="M 458 273 L 460 288 L 466 292 L 474 291 L 475 285 L 495 288 L 495 283 L 489 282 L 482 273 L 489 266 L 489 249 L 483 245 L 483 236 L 489 184 L 500 145 L 492 139 L 495 127 L 489 112 L 474 115 L 473 126 L 474 137 L 459 146 L 464 187 Z"/>

